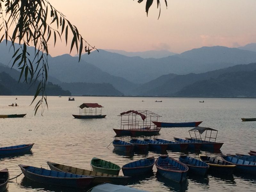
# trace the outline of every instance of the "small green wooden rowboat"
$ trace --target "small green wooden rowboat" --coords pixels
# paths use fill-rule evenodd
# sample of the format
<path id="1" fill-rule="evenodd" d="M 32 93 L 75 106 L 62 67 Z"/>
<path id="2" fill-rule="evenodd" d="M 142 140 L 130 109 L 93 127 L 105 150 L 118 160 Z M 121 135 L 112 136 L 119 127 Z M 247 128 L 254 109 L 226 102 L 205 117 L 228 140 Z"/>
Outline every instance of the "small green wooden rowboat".
<path id="1" fill-rule="evenodd" d="M 121 169 L 117 164 L 111 163 L 110 161 L 105 161 L 97 157 L 93 157 L 91 160 L 92 170 L 96 172 L 108 173 L 112 175 L 119 175 Z"/>

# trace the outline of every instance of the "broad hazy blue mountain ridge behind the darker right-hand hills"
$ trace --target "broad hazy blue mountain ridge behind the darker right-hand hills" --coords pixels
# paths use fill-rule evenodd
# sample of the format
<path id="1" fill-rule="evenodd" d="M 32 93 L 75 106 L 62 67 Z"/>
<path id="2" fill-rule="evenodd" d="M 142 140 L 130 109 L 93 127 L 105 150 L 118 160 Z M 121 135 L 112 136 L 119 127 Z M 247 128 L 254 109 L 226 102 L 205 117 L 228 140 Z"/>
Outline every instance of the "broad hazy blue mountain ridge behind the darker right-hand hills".
<path id="1" fill-rule="evenodd" d="M 256 61 L 256 52 L 222 46 L 202 47 L 160 59 L 127 57 L 104 50 L 82 55 L 82 59 L 113 76 L 144 84 L 169 73 L 185 75 Z"/>

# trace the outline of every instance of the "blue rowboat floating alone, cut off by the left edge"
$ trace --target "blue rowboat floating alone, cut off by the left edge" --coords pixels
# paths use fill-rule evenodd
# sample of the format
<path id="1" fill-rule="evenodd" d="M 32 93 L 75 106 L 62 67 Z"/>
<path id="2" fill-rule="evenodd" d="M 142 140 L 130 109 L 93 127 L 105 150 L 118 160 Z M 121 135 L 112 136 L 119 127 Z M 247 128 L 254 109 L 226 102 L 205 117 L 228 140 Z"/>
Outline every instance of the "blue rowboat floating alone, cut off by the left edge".
<path id="1" fill-rule="evenodd" d="M 32 144 L 24 144 L 24 145 L 15 145 L 10 147 L 1 147 L 0 148 L 0 156 L 1 155 L 9 155 L 14 153 L 24 153 L 26 151 L 30 151 L 33 147 L 34 143 Z"/>

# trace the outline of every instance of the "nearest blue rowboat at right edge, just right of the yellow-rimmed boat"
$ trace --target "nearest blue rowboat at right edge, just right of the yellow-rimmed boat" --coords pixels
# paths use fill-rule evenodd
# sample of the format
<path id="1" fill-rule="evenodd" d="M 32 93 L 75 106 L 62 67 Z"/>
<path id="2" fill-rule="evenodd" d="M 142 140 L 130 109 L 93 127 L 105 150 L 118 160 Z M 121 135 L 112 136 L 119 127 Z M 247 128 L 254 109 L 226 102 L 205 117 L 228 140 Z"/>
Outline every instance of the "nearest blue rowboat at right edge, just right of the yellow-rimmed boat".
<path id="1" fill-rule="evenodd" d="M 256 162 L 245 161 L 232 156 L 221 155 L 221 159 L 225 162 L 236 165 L 236 170 L 244 173 L 256 174 Z"/>

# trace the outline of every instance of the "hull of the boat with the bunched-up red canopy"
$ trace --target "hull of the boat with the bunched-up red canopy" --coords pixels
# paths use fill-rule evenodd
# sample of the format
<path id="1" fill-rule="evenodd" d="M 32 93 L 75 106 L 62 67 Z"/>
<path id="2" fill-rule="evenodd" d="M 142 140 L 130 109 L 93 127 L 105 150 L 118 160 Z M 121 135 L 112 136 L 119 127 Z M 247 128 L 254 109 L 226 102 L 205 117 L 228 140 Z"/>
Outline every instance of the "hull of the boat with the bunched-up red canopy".
<path id="1" fill-rule="evenodd" d="M 161 128 L 156 129 L 113 129 L 117 136 L 153 136 L 158 135 Z"/>

